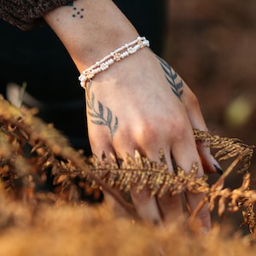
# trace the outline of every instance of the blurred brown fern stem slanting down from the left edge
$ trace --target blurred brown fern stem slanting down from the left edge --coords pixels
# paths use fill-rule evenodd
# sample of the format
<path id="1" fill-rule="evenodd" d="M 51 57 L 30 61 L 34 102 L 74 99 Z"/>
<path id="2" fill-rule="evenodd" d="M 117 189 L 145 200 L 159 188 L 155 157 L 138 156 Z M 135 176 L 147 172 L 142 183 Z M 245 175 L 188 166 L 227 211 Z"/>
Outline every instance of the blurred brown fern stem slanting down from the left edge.
<path id="1" fill-rule="evenodd" d="M 99 177 L 90 172 L 88 165 L 86 165 L 84 157 L 78 151 L 70 147 L 67 138 L 61 136 L 61 133 L 53 127 L 53 125 L 46 125 L 44 122 L 34 116 L 34 110 L 27 110 L 26 108 L 15 108 L 9 102 L 0 96 L 0 124 L 8 124 L 15 127 L 15 130 L 26 134 L 27 143 L 35 147 L 38 143 L 45 145 L 46 148 L 52 152 L 57 158 L 61 157 L 64 160 L 71 160 L 74 166 L 79 168 L 80 172 L 86 173 L 87 176 L 93 178 L 96 183 L 100 184 L 102 188 L 106 189 L 110 195 L 119 201 L 119 204 L 125 207 L 127 212 L 130 212 L 135 218 L 137 215 L 130 206 L 117 194 L 113 189 L 110 189 L 106 183 L 103 183 Z M 8 133 L 1 125 L 3 132 Z"/>

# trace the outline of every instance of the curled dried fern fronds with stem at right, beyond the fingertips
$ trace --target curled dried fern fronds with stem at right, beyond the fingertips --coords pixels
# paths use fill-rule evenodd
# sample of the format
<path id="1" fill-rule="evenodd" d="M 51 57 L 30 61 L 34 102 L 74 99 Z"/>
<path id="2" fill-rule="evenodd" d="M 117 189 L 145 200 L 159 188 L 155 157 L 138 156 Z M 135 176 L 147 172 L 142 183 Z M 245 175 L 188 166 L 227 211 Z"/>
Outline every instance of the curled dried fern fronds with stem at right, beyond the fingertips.
<path id="1" fill-rule="evenodd" d="M 244 224 L 248 225 L 248 228 L 252 234 L 255 233 L 256 217 L 253 212 L 253 205 L 256 201 L 256 191 L 250 189 L 250 174 L 249 167 L 251 165 L 251 159 L 253 157 L 254 146 L 248 146 L 242 143 L 240 139 L 219 137 L 218 135 L 212 136 L 209 132 L 202 133 L 195 130 L 195 139 L 201 142 L 207 143 L 210 148 L 218 149 L 215 157 L 218 160 L 228 160 L 236 157 L 236 160 L 228 167 L 224 172 L 223 177 L 220 177 L 218 182 L 212 185 L 212 188 L 207 193 L 204 201 L 197 207 L 196 212 L 202 207 L 202 205 L 208 200 L 209 209 L 212 211 L 218 200 L 218 215 L 223 215 L 228 204 L 228 210 L 230 212 L 236 212 L 241 207 L 244 209 L 242 215 L 244 218 Z M 238 189 L 223 188 L 224 178 L 230 175 L 235 166 L 240 163 L 241 167 L 238 172 L 244 173 L 242 177 L 241 187 Z M 194 218 L 192 216 L 192 218 Z"/>

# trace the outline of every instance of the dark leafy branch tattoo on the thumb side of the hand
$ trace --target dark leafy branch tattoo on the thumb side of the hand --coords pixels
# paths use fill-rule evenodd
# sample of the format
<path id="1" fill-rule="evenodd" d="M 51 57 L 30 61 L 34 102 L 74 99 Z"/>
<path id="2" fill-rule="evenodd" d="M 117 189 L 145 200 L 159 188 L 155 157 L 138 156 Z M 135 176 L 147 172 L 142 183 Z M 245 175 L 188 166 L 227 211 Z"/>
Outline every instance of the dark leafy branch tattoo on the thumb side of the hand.
<path id="1" fill-rule="evenodd" d="M 183 80 L 178 77 L 175 70 L 166 61 L 161 59 L 159 56 L 157 57 L 160 60 L 161 67 L 166 73 L 166 79 L 171 85 L 172 91 L 180 100 L 182 100 L 181 97 L 183 95 Z"/>

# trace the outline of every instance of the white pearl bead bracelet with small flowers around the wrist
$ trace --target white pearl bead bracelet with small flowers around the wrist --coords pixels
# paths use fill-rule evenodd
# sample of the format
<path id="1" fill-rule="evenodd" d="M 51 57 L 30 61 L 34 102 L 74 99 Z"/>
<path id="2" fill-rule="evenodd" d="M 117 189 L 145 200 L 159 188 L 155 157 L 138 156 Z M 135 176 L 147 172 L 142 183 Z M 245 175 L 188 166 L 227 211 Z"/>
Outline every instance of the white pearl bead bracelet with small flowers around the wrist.
<path id="1" fill-rule="evenodd" d="M 79 76 L 81 86 L 85 89 L 86 84 L 89 80 L 93 79 L 97 73 L 108 69 L 109 66 L 113 65 L 114 62 L 121 61 L 125 57 L 132 55 L 137 52 L 138 49 L 149 47 L 149 42 L 146 38 L 138 37 L 129 44 L 125 44 L 119 49 L 114 50 L 109 55 L 105 56 L 101 61 L 96 63 L 89 68 L 85 69 Z"/>

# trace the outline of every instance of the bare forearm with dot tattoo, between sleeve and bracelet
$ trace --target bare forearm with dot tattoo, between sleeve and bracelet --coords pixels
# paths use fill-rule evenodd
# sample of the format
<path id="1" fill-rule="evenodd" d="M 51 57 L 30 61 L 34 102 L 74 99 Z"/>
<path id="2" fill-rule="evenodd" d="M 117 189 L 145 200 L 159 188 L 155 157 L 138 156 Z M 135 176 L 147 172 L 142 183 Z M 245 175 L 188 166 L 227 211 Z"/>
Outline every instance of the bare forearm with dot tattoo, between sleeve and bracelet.
<path id="1" fill-rule="evenodd" d="M 66 46 L 80 72 L 137 38 L 135 28 L 110 0 L 74 1 L 73 6 L 54 9 L 44 19 Z"/>

